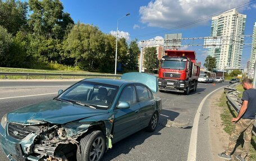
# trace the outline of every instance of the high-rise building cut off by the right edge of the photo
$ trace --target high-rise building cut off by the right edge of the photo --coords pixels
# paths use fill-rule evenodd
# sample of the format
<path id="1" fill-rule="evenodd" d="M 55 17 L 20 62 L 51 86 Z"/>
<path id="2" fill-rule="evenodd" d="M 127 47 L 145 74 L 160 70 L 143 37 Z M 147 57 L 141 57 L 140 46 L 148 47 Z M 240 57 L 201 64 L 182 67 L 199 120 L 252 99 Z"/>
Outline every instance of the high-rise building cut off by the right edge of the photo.
<path id="1" fill-rule="evenodd" d="M 249 77 L 253 77 L 254 73 L 254 63 L 256 62 L 256 22 L 253 27 L 253 43 L 252 43 L 252 52 L 250 57 L 250 70 L 249 70 Z"/>

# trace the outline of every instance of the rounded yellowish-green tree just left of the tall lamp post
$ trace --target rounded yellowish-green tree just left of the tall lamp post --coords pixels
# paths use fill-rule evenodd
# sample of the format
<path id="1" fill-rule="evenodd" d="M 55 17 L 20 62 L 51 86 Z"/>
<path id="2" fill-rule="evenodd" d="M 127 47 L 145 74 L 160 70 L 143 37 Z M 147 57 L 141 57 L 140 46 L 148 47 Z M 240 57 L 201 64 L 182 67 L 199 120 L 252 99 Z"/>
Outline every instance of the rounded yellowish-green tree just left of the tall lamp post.
<path id="1" fill-rule="evenodd" d="M 65 41 L 66 53 L 75 58 L 75 65 L 92 71 L 106 56 L 104 38 L 98 27 L 77 23 Z"/>

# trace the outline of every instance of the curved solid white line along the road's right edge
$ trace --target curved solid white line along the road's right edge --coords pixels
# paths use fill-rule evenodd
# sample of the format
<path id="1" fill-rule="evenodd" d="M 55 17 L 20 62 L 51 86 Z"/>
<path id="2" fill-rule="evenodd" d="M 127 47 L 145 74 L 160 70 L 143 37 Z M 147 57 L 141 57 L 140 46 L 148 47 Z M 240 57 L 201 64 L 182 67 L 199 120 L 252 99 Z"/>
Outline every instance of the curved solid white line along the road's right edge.
<path id="1" fill-rule="evenodd" d="M 221 87 L 221 88 L 223 88 L 223 87 Z M 191 136 L 190 136 L 188 161 L 195 161 L 196 160 L 196 144 L 197 144 L 197 136 L 198 136 L 198 123 L 199 123 L 199 118 L 200 118 L 200 112 L 202 110 L 204 102 L 208 98 L 209 95 L 211 95 L 212 93 L 214 93 L 215 91 L 217 91 L 221 88 L 218 88 L 218 89 L 212 91 L 211 93 L 209 93 L 207 96 L 204 97 L 202 102 L 199 104 L 198 110 L 196 111 L 196 114 L 195 114 L 193 128 L 192 128 Z"/>

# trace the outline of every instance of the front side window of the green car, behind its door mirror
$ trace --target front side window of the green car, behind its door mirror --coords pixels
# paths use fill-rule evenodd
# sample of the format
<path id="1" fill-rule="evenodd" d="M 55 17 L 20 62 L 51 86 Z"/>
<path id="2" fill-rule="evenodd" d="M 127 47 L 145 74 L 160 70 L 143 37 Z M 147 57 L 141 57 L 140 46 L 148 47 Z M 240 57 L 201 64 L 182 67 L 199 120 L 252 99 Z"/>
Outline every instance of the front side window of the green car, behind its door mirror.
<path id="1" fill-rule="evenodd" d="M 120 102 L 128 102 L 129 104 L 136 103 L 136 95 L 134 86 L 126 86 L 120 95 L 118 103 Z"/>

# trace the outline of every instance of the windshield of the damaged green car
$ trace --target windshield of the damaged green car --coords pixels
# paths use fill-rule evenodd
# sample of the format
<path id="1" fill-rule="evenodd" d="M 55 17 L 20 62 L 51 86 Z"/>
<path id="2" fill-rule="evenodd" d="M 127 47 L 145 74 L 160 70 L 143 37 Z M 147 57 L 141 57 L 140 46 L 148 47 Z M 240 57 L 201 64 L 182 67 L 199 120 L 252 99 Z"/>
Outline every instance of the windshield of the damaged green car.
<path id="1" fill-rule="evenodd" d="M 117 86 L 81 81 L 63 92 L 56 100 L 90 108 L 108 109 L 117 89 Z"/>

